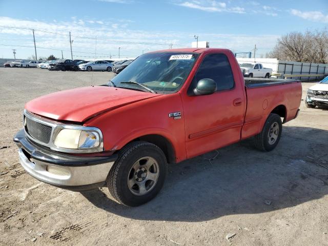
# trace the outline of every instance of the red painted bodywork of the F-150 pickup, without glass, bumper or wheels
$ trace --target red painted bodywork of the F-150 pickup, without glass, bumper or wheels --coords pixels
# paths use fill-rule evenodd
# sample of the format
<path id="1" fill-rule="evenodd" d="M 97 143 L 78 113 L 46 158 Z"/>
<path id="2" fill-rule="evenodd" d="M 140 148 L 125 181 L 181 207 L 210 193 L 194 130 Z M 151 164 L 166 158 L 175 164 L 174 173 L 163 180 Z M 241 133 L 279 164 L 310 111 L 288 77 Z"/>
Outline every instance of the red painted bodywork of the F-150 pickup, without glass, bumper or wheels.
<path id="1" fill-rule="evenodd" d="M 105 151 L 119 150 L 145 135 L 160 135 L 171 143 L 176 162 L 256 135 L 277 106 L 285 108 L 285 122 L 295 118 L 300 106 L 301 83 L 249 89 L 244 86 L 243 75 L 230 50 L 166 51 L 200 53 L 185 84 L 176 93 L 87 87 L 36 98 L 26 104 L 26 109 L 52 119 L 99 128 L 103 132 Z M 212 53 L 228 57 L 235 87 L 211 95 L 187 95 L 202 59 Z M 181 112 L 181 118 L 168 117 L 172 112 Z"/>

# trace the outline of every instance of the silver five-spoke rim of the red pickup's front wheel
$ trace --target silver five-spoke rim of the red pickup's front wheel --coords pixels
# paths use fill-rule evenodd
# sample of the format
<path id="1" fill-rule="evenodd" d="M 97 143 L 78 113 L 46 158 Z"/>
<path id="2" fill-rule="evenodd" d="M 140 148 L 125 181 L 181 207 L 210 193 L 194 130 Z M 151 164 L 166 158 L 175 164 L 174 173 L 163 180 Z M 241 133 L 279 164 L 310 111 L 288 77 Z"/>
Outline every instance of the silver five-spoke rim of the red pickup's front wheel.
<path id="1" fill-rule="evenodd" d="M 145 156 L 134 162 L 128 175 L 128 187 L 132 194 L 137 196 L 146 195 L 157 183 L 159 166 L 157 161 Z"/>

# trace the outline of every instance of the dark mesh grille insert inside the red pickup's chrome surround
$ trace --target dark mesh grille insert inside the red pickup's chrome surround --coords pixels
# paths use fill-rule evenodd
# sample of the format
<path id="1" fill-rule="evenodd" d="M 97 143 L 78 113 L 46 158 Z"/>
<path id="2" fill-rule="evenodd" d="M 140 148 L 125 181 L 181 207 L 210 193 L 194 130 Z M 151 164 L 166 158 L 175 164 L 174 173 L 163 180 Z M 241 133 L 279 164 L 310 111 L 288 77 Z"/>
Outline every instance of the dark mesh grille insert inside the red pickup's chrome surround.
<path id="1" fill-rule="evenodd" d="M 49 144 L 52 127 L 37 122 L 26 116 L 25 116 L 25 120 L 26 120 L 25 131 L 36 140 L 39 140 L 44 144 Z"/>

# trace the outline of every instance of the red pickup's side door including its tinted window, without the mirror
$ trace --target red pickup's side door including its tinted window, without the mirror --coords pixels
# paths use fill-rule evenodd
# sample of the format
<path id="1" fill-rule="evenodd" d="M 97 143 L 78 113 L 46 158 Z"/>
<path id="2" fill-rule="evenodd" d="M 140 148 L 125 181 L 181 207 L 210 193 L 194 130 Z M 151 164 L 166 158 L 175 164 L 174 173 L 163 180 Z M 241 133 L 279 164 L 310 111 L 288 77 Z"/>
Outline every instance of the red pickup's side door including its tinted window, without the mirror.
<path id="1" fill-rule="evenodd" d="M 195 95 L 193 89 L 203 78 L 216 82 L 211 95 Z M 239 141 L 244 115 L 243 88 L 234 78 L 225 54 L 208 54 L 202 60 L 188 95 L 182 96 L 188 158 Z"/>

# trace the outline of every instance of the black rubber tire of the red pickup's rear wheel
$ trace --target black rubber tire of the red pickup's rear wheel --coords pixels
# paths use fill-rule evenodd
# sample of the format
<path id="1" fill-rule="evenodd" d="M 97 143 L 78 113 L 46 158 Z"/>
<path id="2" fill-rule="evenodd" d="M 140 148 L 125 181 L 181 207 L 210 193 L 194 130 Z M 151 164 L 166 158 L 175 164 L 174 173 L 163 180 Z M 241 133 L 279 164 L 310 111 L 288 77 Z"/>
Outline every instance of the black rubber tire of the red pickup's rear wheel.
<path id="1" fill-rule="evenodd" d="M 271 131 L 271 127 L 277 124 L 279 127 L 279 132 L 275 135 L 277 135 L 277 139 L 271 144 L 269 142 L 269 134 Z M 282 132 L 282 123 L 281 118 L 278 114 L 270 114 L 267 118 L 267 121 L 265 121 L 265 124 L 263 126 L 262 131 L 255 135 L 255 147 L 261 151 L 272 151 L 276 146 L 278 145 L 278 142 L 280 140 Z"/>

